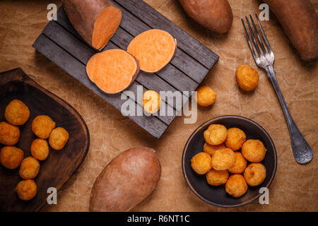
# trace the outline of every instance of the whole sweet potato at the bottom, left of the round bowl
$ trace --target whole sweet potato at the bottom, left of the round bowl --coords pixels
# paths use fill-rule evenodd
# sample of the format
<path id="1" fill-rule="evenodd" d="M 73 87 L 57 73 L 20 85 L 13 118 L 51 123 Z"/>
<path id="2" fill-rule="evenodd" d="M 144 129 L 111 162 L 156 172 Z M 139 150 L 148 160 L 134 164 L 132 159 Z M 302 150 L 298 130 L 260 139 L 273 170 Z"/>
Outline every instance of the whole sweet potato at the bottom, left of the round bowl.
<path id="1" fill-rule="evenodd" d="M 131 148 L 115 157 L 96 179 L 90 211 L 124 212 L 134 208 L 155 189 L 161 167 L 155 150 Z"/>

